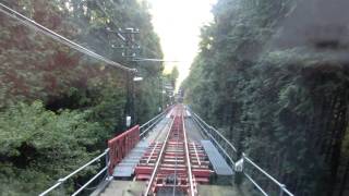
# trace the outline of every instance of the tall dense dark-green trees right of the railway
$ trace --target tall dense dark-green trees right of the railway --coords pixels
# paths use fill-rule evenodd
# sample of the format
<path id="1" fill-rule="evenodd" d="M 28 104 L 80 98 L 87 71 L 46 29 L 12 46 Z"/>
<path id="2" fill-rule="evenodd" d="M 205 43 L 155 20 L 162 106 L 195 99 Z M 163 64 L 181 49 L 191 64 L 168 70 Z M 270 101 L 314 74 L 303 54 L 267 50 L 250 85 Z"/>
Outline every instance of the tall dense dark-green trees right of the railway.
<path id="1" fill-rule="evenodd" d="M 182 85 L 194 111 L 299 196 L 348 186 L 347 24 L 321 23 L 336 12 L 326 2 L 219 0 Z"/>

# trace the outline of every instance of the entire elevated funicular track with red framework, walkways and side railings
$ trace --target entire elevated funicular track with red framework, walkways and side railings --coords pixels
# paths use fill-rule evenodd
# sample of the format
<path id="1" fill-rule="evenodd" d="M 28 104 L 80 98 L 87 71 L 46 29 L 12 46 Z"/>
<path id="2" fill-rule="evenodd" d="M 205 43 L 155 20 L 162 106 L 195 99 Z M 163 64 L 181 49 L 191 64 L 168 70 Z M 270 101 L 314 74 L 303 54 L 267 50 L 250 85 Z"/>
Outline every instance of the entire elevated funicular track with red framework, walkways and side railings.
<path id="1" fill-rule="evenodd" d="M 59 195 L 64 195 L 62 194 L 64 192 L 63 183 L 87 167 L 99 162 L 103 157 L 106 159 L 106 167 L 72 195 L 77 195 L 84 188 L 86 189 L 93 181 L 104 173 L 106 173 L 106 179 L 94 191 L 92 194 L 94 196 L 245 195 L 243 189 L 236 189 L 231 186 L 232 166 L 233 170 L 244 175 L 262 195 L 268 196 L 269 194 L 251 176 L 250 170 L 241 168 L 241 163 L 244 163 L 246 167 L 253 167 L 279 187 L 279 195 L 293 196 L 284 184 L 244 154 L 242 159 L 234 163 L 227 151 L 234 151 L 236 148 L 197 114 L 192 113 L 188 108 L 184 109 L 182 105 L 177 105 L 169 111 L 165 112 L 165 114 L 168 113 L 167 115 L 161 113 L 151 120 L 157 123 L 158 118 L 164 117 L 160 123 L 163 125 L 155 127 L 154 132 L 147 132 L 149 128 L 145 125 L 135 125 L 109 139 L 105 152 L 58 180 L 40 196 L 58 189 Z M 197 127 L 192 126 L 193 124 L 190 125 L 194 122 L 197 123 Z M 149 127 L 152 126 L 154 125 Z M 140 131 L 140 127 L 143 130 Z M 195 135 L 195 132 L 200 131 L 196 128 L 201 128 L 205 136 L 200 138 L 198 135 Z M 158 138 L 159 136 L 160 138 Z M 206 136 L 210 139 L 208 140 Z M 217 139 L 222 144 L 226 143 L 227 146 L 220 146 Z M 229 164 L 227 160 L 230 160 L 232 164 Z M 270 195 L 275 195 L 274 192 Z"/>

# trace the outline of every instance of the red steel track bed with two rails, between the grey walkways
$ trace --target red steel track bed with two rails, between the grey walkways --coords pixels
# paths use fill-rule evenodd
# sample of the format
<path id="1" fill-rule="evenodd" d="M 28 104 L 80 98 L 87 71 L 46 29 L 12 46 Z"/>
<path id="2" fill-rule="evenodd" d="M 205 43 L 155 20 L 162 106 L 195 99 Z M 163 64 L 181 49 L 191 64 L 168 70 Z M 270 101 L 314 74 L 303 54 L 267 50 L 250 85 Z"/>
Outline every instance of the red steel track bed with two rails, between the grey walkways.
<path id="1" fill-rule="evenodd" d="M 183 107 L 177 106 L 164 143 L 153 143 L 135 168 L 136 180 L 147 180 L 144 195 L 171 191 L 174 195 L 197 195 L 197 183 L 208 183 L 213 171 L 202 146 L 189 143 Z"/>

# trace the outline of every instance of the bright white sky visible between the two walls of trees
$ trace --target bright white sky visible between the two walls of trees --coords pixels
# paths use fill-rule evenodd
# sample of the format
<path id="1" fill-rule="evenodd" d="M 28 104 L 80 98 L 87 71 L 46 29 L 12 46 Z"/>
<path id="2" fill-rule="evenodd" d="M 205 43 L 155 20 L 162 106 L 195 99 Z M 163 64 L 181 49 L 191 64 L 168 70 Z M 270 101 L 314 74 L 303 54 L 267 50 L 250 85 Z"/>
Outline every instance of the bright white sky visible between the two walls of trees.
<path id="1" fill-rule="evenodd" d="M 165 72 L 176 65 L 180 84 L 189 74 L 190 65 L 197 54 L 200 29 L 213 20 L 212 5 L 216 0 L 147 0 L 151 4 L 153 25 L 160 37 Z M 177 84 L 177 85 L 178 85 Z"/>

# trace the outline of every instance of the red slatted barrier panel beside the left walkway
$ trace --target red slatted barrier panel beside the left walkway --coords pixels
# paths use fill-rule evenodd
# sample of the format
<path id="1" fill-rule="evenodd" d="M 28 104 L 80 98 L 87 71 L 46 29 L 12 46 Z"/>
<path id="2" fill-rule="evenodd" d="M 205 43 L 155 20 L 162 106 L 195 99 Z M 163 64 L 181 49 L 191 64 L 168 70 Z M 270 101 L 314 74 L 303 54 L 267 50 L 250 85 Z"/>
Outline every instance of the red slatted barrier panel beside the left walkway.
<path id="1" fill-rule="evenodd" d="M 108 140 L 110 164 L 108 172 L 111 175 L 113 168 L 135 147 L 140 142 L 140 125 L 123 132 Z"/>

